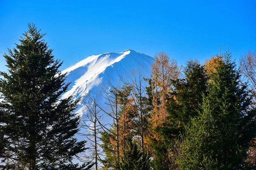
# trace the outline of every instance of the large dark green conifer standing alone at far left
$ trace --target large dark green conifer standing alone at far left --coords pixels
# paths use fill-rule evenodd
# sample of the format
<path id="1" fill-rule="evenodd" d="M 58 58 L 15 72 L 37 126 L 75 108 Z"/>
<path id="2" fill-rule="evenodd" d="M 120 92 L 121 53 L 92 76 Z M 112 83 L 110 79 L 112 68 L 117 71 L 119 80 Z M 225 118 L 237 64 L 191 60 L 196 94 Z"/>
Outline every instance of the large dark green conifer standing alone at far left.
<path id="1" fill-rule="evenodd" d="M 60 98 L 69 85 L 64 84 L 66 74 L 58 70 L 62 62 L 54 59 L 35 25 L 29 24 L 23 36 L 20 45 L 4 55 L 9 72 L 0 72 L 0 132 L 9 142 L 0 158 L 3 169 L 88 169 L 91 165 L 71 163 L 86 148 L 85 141 L 74 138 L 79 117 L 72 112 L 78 101 Z"/>

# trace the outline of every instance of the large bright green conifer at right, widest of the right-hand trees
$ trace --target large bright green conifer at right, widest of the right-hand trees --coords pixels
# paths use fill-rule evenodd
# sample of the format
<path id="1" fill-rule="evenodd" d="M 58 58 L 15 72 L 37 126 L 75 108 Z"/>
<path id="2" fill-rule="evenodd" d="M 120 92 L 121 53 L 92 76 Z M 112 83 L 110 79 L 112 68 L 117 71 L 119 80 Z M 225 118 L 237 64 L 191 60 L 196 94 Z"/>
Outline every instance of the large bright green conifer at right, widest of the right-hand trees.
<path id="1" fill-rule="evenodd" d="M 246 169 L 247 149 L 256 135 L 255 109 L 230 54 L 210 77 L 201 113 L 186 127 L 181 170 Z"/>

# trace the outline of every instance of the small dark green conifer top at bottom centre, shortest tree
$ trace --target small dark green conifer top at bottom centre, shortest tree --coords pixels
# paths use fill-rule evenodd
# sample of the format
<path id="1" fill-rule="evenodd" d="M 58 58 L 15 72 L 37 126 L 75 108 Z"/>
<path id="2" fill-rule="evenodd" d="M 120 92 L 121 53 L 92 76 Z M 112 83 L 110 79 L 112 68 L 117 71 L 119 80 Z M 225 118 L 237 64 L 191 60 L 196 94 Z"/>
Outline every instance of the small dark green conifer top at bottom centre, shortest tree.
<path id="1" fill-rule="evenodd" d="M 126 142 L 127 146 L 119 163 L 120 170 L 149 170 L 148 156 L 143 156 L 143 152 L 138 150 L 136 141 L 132 141 L 132 137 L 128 136 Z"/>

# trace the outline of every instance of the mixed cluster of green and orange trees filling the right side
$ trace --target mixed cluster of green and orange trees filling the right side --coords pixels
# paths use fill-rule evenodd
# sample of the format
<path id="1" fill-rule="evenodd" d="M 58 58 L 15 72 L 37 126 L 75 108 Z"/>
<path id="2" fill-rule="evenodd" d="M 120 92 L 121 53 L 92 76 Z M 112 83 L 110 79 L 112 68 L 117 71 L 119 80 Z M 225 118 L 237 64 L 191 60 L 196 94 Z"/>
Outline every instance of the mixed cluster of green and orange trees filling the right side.
<path id="1" fill-rule="evenodd" d="M 160 52 L 150 78 L 138 70 L 105 91 L 113 122 L 98 122 L 101 169 L 254 169 L 255 57 L 241 57 L 238 68 L 227 51 L 180 68 Z"/>

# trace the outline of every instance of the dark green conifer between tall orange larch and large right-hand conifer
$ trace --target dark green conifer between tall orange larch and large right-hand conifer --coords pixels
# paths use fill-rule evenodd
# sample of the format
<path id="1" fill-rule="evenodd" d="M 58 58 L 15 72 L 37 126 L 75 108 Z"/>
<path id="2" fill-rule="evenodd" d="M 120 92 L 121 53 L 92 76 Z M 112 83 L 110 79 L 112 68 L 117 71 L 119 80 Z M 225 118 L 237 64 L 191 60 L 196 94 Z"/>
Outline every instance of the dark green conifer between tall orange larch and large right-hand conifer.
<path id="1" fill-rule="evenodd" d="M 185 79 L 172 81 L 174 91 L 170 94 L 167 111 L 169 120 L 174 128 L 180 130 L 198 115 L 199 105 L 202 103 L 202 94 L 206 94 L 207 75 L 204 66 L 198 61 L 186 62 L 183 74 Z"/>

